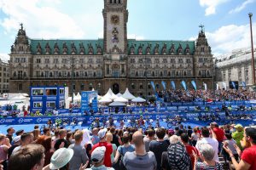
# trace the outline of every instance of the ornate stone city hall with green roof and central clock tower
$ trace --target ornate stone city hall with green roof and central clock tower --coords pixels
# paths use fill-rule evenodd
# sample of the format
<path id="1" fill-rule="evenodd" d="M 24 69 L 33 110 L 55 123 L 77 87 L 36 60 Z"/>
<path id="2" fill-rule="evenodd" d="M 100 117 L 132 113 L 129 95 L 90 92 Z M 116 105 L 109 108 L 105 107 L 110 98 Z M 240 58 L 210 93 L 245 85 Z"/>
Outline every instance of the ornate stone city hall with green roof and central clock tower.
<path id="1" fill-rule="evenodd" d="M 10 93 L 66 84 L 76 93 L 129 88 L 145 96 L 154 93 L 150 82 L 162 90 L 162 81 L 169 89 L 171 81 L 176 88 L 182 81 L 193 88 L 192 80 L 198 88 L 212 88 L 212 53 L 203 26 L 196 41 L 137 41 L 127 39 L 127 0 L 104 0 L 102 14 L 104 37 L 96 40 L 33 39 L 21 24 L 10 53 Z"/>

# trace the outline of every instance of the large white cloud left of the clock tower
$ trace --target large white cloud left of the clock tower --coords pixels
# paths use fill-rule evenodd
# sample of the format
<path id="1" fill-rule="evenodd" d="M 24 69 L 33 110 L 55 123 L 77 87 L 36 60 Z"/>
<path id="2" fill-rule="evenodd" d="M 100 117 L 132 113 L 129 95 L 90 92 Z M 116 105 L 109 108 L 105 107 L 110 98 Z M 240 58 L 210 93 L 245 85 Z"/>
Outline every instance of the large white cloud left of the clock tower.
<path id="1" fill-rule="evenodd" d="M 102 14 L 94 15 L 98 11 L 92 13 L 90 11 L 90 16 L 94 17 L 70 14 L 68 9 L 62 13 L 57 8 L 60 3 L 60 0 L 2 0 L 0 10 L 6 14 L 6 17 L 2 19 L 0 25 L 3 26 L 4 32 L 12 34 L 18 31 L 19 23 L 22 22 L 28 37 L 45 39 L 89 37 L 90 31 L 95 30 L 94 22 L 99 22 L 96 26 L 101 26 L 102 29 L 102 22 L 99 20 Z M 86 11 L 83 11 L 85 15 Z"/>

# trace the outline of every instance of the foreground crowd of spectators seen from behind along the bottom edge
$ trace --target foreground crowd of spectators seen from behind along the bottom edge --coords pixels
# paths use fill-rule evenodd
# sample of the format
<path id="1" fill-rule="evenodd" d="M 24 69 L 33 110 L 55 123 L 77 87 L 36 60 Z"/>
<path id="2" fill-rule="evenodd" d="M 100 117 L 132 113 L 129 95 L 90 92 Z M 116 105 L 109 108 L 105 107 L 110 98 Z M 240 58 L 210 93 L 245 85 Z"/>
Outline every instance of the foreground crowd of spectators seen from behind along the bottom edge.
<path id="1" fill-rule="evenodd" d="M 221 159 L 220 159 L 221 158 Z M 0 134 L 1 170 L 173 170 L 256 169 L 256 128 L 136 127 L 70 131 L 38 126 L 32 132 L 9 127 Z"/>

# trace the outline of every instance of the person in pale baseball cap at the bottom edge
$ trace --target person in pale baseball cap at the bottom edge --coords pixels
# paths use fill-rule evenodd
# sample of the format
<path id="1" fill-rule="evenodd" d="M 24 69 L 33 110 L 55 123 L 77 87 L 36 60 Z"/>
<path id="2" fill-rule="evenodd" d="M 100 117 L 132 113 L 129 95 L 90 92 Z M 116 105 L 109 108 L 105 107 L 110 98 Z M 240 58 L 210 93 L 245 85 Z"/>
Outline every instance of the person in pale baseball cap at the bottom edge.
<path id="1" fill-rule="evenodd" d="M 91 163 L 93 166 L 91 168 L 87 168 L 86 170 L 114 170 L 113 167 L 105 167 L 104 165 L 104 157 L 105 157 L 106 147 L 99 146 L 91 153 Z"/>

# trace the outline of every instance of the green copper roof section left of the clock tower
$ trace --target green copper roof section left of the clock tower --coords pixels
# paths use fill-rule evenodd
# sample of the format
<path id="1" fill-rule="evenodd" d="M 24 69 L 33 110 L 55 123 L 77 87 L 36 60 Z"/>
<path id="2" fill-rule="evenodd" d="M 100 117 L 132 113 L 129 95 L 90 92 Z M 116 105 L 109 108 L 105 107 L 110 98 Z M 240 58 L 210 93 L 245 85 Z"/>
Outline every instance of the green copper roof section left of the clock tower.
<path id="1" fill-rule="evenodd" d="M 79 54 L 80 51 L 80 43 L 83 43 L 84 45 L 84 54 L 88 54 L 89 52 L 89 45 L 91 44 L 93 48 L 93 54 L 96 54 L 97 47 L 102 48 L 102 54 L 103 54 L 103 39 L 98 40 L 36 40 L 36 39 L 30 39 L 32 54 L 37 54 L 37 47 L 38 43 L 40 43 L 40 46 L 42 48 L 42 54 L 45 54 L 45 46 L 47 43 L 49 43 L 50 52 L 49 54 L 54 54 L 55 50 L 55 43 L 57 43 L 59 47 L 59 54 L 63 54 L 63 43 L 66 43 L 67 45 L 67 54 L 71 54 L 72 52 L 72 43 L 74 43 L 74 46 L 76 47 L 76 54 Z"/>

